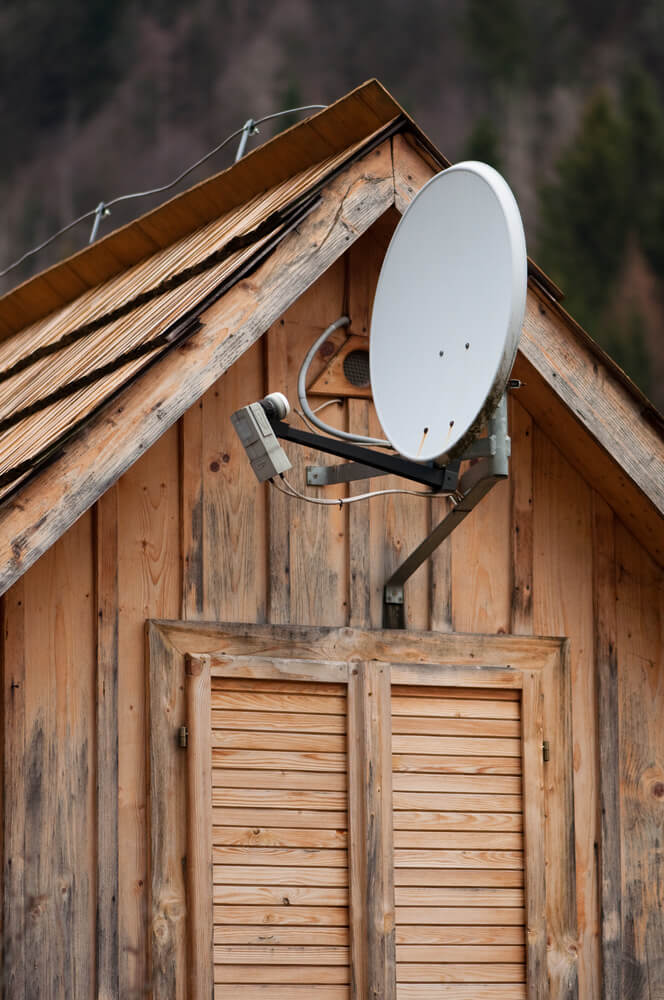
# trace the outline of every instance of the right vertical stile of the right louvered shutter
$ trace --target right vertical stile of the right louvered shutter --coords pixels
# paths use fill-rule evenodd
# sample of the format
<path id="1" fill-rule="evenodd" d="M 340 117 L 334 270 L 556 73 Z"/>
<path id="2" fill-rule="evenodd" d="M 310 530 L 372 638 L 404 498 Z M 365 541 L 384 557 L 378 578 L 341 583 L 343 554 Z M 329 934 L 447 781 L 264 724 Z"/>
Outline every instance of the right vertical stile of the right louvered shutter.
<path id="1" fill-rule="evenodd" d="M 541 1000 L 547 995 L 549 988 L 546 967 L 546 871 L 541 850 L 546 811 L 542 760 L 542 684 L 541 678 L 534 671 L 528 675 L 527 683 L 524 683 L 522 708 L 528 1000 Z"/>

